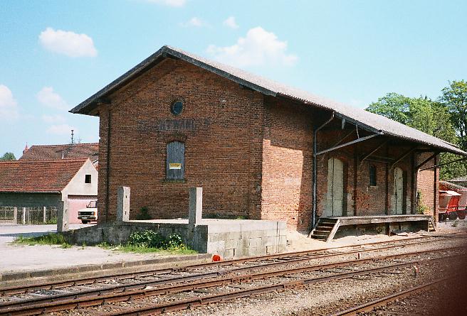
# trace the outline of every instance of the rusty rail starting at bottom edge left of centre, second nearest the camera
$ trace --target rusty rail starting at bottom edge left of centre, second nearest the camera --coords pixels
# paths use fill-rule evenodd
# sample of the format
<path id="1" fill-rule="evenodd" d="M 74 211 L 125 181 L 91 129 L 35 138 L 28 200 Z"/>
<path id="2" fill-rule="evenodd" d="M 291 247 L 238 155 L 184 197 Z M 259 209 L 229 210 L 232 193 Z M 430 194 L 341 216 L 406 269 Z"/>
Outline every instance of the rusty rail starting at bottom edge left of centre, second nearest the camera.
<path id="1" fill-rule="evenodd" d="M 414 263 L 407 263 L 406 266 L 411 266 Z M 399 268 L 399 266 L 397 267 Z M 198 307 L 201 305 L 211 304 L 211 303 L 220 303 L 225 300 L 233 300 L 235 298 L 244 298 L 250 295 L 258 295 L 262 293 L 269 293 L 278 290 L 285 290 L 288 288 L 302 288 L 305 285 L 311 285 L 313 283 L 322 283 L 330 280 L 341 280 L 345 278 L 352 278 L 354 276 L 362 276 L 366 274 L 373 274 L 373 273 L 380 273 L 385 271 L 392 270 L 389 266 L 382 267 L 382 268 L 374 268 L 372 272 L 368 271 L 369 273 L 364 273 L 364 271 L 358 272 L 347 272 L 347 273 L 340 273 L 335 276 L 323 276 L 321 278 L 306 278 L 302 280 L 294 280 L 289 282 L 278 283 L 274 285 L 266 285 L 266 286 L 259 286 L 255 288 L 250 288 L 246 290 L 238 290 L 234 292 L 227 292 L 227 293 L 218 293 L 214 295 L 207 295 L 203 298 L 191 298 L 187 300 L 182 300 L 178 302 L 170 302 L 170 303 L 159 303 L 156 305 L 148 306 L 148 307 L 140 307 L 135 308 L 132 310 L 124 310 L 124 311 L 117 311 L 117 312 L 110 312 L 110 313 L 101 313 L 99 315 L 105 316 L 143 316 L 143 315 L 156 315 L 162 314 L 163 312 L 173 312 L 176 310 L 182 310 L 185 308 L 191 307 Z"/>

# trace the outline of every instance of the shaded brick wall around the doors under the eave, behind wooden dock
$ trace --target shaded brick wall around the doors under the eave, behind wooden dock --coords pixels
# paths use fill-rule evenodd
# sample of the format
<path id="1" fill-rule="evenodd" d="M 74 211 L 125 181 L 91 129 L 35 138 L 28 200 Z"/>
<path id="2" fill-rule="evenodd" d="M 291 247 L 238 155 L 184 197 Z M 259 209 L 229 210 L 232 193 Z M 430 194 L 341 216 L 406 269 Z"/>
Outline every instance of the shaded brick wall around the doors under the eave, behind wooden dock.
<path id="1" fill-rule="evenodd" d="M 348 124 L 347 124 L 348 125 Z M 330 126 L 327 130 L 318 134 L 318 151 L 335 146 L 342 138 L 347 136 L 352 127 L 339 129 L 340 126 Z M 355 129 L 355 127 L 354 127 Z M 360 136 L 364 136 L 360 131 Z M 352 141 L 355 135 L 345 138 L 342 143 Z M 392 214 L 392 195 L 394 194 L 394 168 L 399 167 L 404 171 L 404 209 L 406 213 L 411 212 L 412 190 L 411 190 L 411 156 L 408 156 L 389 168 L 387 164 L 375 161 L 372 158 L 360 162 L 365 154 L 377 148 L 384 139 L 373 138 L 362 141 L 356 146 L 348 146 L 325 153 L 318 157 L 318 216 L 323 214 L 327 200 L 327 160 L 338 158 L 344 163 L 344 210 L 346 216 L 367 216 Z M 372 156 L 385 156 L 396 158 L 410 149 L 409 146 L 389 146 L 379 148 Z M 355 161 L 355 156 L 358 162 Z M 377 185 L 369 185 L 369 165 L 377 168 Z M 355 178 L 355 170 L 357 177 Z"/>

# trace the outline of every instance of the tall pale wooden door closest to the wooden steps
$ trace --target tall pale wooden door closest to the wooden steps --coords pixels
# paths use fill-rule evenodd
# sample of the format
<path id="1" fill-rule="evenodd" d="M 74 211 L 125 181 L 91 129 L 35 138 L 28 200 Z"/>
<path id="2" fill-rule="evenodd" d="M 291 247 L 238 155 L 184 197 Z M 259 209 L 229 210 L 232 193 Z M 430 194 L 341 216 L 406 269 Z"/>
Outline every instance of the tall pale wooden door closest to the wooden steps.
<path id="1" fill-rule="evenodd" d="M 342 216 L 344 202 L 344 164 L 337 158 L 327 160 L 327 204 L 325 216 Z"/>

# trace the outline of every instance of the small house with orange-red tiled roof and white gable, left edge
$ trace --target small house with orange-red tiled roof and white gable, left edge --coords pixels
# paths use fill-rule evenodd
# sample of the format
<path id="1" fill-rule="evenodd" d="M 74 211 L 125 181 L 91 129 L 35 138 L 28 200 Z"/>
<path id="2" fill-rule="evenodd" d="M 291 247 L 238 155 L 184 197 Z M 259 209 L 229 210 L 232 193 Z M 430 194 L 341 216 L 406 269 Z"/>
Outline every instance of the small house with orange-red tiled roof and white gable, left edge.
<path id="1" fill-rule="evenodd" d="M 70 224 L 98 195 L 98 170 L 89 158 L 0 161 L 0 206 L 56 207 L 68 202 Z"/>

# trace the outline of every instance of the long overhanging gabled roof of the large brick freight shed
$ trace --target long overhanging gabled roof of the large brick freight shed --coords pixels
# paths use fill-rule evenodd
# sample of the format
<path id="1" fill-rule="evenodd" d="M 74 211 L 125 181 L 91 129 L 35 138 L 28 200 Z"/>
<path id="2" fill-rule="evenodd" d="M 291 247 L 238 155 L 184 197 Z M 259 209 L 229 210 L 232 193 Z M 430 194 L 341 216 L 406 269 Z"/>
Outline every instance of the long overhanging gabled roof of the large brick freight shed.
<path id="1" fill-rule="evenodd" d="M 135 77 L 141 75 L 143 72 L 145 72 L 145 70 L 148 70 L 150 67 L 157 65 L 157 63 L 161 62 L 167 57 L 184 60 L 266 95 L 294 99 L 295 101 L 301 102 L 303 104 L 309 104 L 315 107 L 320 107 L 322 109 L 334 111 L 336 117 L 346 119 L 352 124 L 358 124 L 363 129 L 373 133 L 404 138 L 416 143 L 433 146 L 441 151 L 448 151 L 461 156 L 467 156 L 465 151 L 461 151 L 461 149 L 457 148 L 451 143 L 425 134 L 424 132 L 418 131 L 416 129 L 412 129 L 411 127 L 400 124 L 397 121 L 387 119 L 384 116 L 364 111 L 364 109 L 350 107 L 346 104 L 335 102 L 330 99 L 318 97 L 317 95 L 311 94 L 310 92 L 288 87 L 287 85 L 282 85 L 278 82 L 274 82 L 273 80 L 268 80 L 266 78 L 253 75 L 250 72 L 240 70 L 236 67 L 231 67 L 229 65 L 221 64 L 220 62 L 214 62 L 206 58 L 201 58 L 197 55 L 187 53 L 183 50 L 172 48 L 167 45 L 162 46 L 162 48 L 149 56 L 149 58 L 146 58 L 140 62 L 140 64 L 125 72 L 125 74 L 118 77 L 99 92 L 78 104 L 78 106 L 71 109 L 70 112 L 78 114 L 90 114 L 97 107 L 97 103 L 103 101 L 107 95 L 127 84 L 127 82 L 130 82 L 130 80 L 135 79 Z"/>

